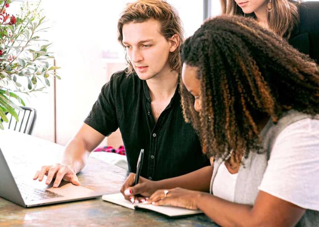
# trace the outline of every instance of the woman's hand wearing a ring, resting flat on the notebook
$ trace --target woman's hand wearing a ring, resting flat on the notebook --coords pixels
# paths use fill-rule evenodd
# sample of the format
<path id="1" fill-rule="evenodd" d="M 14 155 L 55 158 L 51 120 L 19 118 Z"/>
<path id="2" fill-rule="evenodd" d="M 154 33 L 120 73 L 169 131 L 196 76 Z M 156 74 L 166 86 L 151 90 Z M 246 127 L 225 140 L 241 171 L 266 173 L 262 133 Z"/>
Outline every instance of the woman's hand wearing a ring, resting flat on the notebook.
<path id="1" fill-rule="evenodd" d="M 174 206 L 183 207 L 191 210 L 197 210 L 196 200 L 202 192 L 187 190 L 183 188 L 174 188 L 167 190 L 168 193 L 164 193 L 165 189 L 157 190 L 152 194 L 147 204 L 153 204 L 157 206 Z"/>

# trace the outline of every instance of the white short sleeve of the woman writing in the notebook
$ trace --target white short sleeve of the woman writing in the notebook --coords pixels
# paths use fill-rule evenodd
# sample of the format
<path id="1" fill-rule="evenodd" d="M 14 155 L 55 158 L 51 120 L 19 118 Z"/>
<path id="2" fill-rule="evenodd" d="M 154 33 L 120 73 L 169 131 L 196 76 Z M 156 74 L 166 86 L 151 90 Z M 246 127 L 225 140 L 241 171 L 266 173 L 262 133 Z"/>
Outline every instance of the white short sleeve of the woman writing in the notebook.
<path id="1" fill-rule="evenodd" d="M 319 120 L 297 121 L 278 135 L 258 189 L 319 211 Z"/>

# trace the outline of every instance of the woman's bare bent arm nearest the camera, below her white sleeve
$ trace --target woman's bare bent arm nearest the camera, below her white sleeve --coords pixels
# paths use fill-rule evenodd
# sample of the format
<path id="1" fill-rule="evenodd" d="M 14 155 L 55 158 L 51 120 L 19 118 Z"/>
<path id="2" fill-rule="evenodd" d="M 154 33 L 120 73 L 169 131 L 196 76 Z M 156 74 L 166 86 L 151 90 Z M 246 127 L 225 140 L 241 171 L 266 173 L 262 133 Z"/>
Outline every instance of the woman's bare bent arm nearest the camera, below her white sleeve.
<path id="1" fill-rule="evenodd" d="M 305 209 L 259 191 L 254 206 L 201 193 L 197 207 L 221 226 L 295 226 Z"/>

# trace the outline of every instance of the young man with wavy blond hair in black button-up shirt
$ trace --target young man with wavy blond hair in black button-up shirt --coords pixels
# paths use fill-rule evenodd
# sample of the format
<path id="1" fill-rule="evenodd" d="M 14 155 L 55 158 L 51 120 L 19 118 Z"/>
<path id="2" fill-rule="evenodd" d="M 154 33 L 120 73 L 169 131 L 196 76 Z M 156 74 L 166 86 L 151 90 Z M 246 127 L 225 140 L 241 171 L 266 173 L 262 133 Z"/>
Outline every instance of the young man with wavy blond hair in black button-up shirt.
<path id="1" fill-rule="evenodd" d="M 118 40 L 128 67 L 116 72 L 78 133 L 66 145 L 61 164 L 43 166 L 33 179 L 54 187 L 61 180 L 78 185 L 76 173 L 104 137 L 120 128 L 130 172 L 136 172 L 141 148 L 141 176 L 158 181 L 209 165 L 198 137 L 186 124 L 178 92 L 183 42 L 181 20 L 166 1 L 139 0 L 127 4 L 118 20 Z M 209 184 L 209 182 L 207 182 Z"/>

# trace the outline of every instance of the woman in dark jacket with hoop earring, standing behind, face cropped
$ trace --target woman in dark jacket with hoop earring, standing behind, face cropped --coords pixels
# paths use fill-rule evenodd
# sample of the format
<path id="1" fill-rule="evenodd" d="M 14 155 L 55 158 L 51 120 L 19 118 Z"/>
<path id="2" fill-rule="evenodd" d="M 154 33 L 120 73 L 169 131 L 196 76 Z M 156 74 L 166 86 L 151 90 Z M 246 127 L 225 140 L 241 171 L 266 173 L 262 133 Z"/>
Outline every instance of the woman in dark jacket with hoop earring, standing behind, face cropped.
<path id="1" fill-rule="evenodd" d="M 220 0 L 223 14 L 252 17 L 319 64 L 319 1 Z"/>

